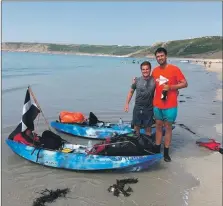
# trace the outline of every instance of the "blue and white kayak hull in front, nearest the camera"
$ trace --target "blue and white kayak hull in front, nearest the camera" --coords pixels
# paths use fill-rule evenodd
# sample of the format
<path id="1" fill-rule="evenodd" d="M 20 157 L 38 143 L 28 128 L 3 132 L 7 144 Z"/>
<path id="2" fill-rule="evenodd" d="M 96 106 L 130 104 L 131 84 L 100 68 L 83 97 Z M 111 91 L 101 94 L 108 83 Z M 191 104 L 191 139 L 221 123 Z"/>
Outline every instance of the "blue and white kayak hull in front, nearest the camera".
<path id="1" fill-rule="evenodd" d="M 6 143 L 13 152 L 31 162 L 68 170 L 103 171 L 124 170 L 128 172 L 148 169 L 163 158 L 161 153 L 144 156 L 103 156 L 91 155 L 86 146 L 66 143 L 64 148 L 71 148 L 71 153 L 60 150 L 40 149 L 7 139 Z"/>

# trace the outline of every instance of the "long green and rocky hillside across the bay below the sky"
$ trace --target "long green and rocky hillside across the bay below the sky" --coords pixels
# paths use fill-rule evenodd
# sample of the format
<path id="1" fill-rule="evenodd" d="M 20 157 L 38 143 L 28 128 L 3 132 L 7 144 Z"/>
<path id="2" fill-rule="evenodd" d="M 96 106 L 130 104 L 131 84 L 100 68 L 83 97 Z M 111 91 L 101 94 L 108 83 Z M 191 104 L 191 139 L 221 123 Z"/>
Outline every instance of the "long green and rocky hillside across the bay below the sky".
<path id="1" fill-rule="evenodd" d="M 222 58 L 222 41 L 223 39 L 220 36 L 210 36 L 159 42 L 151 46 L 5 42 L 2 43 L 2 50 L 145 57 L 154 55 L 154 51 L 158 47 L 164 47 L 170 57 Z"/>

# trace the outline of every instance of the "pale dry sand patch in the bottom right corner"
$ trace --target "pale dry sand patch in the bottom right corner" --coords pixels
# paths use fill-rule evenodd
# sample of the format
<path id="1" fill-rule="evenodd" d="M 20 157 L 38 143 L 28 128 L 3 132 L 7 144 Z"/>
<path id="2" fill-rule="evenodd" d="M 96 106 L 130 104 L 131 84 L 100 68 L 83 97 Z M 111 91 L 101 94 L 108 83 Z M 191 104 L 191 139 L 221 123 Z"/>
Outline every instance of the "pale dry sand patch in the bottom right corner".
<path id="1" fill-rule="evenodd" d="M 189 206 L 222 206 L 222 154 L 189 158 L 185 167 L 200 181 L 200 186 L 191 192 Z"/>

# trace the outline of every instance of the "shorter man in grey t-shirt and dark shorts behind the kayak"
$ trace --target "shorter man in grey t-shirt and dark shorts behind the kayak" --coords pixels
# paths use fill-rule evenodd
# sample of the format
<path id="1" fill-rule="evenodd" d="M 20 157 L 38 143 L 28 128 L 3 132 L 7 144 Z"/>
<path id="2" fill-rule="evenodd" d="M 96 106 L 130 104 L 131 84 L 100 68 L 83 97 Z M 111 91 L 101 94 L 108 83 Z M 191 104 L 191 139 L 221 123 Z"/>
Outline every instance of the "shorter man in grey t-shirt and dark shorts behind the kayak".
<path id="1" fill-rule="evenodd" d="M 155 90 L 155 81 L 150 75 L 151 63 L 148 61 L 140 65 L 141 77 L 135 78 L 128 92 L 125 112 L 129 111 L 129 103 L 136 90 L 135 106 L 133 109 L 132 124 L 137 135 L 140 134 L 140 128 L 144 127 L 146 135 L 151 136 L 151 127 L 153 125 L 153 97 Z"/>

